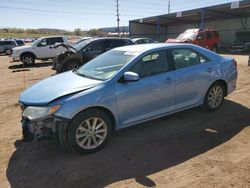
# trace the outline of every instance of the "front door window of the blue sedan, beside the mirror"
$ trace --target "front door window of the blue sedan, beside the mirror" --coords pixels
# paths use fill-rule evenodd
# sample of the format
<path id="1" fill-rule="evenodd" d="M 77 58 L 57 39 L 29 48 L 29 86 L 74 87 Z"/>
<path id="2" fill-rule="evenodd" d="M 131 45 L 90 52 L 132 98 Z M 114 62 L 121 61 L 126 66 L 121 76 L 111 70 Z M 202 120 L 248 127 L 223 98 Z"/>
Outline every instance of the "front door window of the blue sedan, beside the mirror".
<path id="1" fill-rule="evenodd" d="M 145 55 L 129 71 L 139 74 L 141 78 L 169 71 L 166 51 Z"/>

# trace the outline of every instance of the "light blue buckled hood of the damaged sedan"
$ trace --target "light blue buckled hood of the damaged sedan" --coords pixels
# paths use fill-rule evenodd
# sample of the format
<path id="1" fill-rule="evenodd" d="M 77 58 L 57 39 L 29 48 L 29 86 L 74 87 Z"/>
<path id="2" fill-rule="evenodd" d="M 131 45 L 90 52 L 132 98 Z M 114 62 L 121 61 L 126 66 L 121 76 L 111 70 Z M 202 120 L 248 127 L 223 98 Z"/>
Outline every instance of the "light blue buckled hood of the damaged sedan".
<path id="1" fill-rule="evenodd" d="M 19 102 L 24 105 L 47 105 L 59 97 L 90 89 L 101 82 L 69 71 L 34 84 L 21 93 Z"/>

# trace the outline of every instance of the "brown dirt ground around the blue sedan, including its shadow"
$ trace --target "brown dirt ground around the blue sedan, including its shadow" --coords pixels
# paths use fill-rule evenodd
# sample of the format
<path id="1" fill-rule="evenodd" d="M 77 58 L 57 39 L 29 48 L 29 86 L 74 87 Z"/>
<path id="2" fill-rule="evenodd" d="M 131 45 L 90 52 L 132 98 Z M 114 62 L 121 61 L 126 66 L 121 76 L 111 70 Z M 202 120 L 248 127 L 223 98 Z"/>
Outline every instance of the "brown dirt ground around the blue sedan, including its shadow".
<path id="1" fill-rule="evenodd" d="M 250 67 L 237 60 L 237 91 L 218 111 L 131 127 L 81 155 L 52 140 L 21 142 L 18 96 L 54 71 L 49 62 L 22 71 L 0 56 L 0 187 L 250 187 Z"/>

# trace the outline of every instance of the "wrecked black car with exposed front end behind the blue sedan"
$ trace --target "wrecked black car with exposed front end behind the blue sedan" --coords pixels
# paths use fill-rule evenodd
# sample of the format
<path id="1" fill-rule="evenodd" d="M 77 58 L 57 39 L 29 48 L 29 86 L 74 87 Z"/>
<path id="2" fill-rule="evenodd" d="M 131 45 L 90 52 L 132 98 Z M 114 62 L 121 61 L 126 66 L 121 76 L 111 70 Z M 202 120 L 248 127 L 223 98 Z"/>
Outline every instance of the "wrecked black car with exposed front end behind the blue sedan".
<path id="1" fill-rule="evenodd" d="M 78 69 L 81 65 L 108 50 L 132 44 L 133 42 L 127 38 L 87 39 L 77 43 L 73 47 L 70 45 L 59 44 L 54 46 L 54 48 L 63 45 L 66 48 L 66 51 L 58 54 L 54 58 L 52 69 L 57 70 L 57 73 Z"/>

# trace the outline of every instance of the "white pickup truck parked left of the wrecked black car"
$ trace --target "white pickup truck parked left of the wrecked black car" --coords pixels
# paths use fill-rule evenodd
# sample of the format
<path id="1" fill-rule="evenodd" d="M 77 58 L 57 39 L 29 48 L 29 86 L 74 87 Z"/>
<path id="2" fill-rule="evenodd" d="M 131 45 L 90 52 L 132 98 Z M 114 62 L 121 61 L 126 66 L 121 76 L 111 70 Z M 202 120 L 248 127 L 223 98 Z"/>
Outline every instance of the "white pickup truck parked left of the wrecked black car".
<path id="1" fill-rule="evenodd" d="M 13 61 L 22 61 L 25 66 L 31 66 L 36 59 L 53 59 L 58 53 L 65 51 L 65 48 L 52 48 L 56 43 L 67 43 L 62 36 L 41 37 L 34 41 L 31 46 L 20 46 L 13 48 Z"/>

